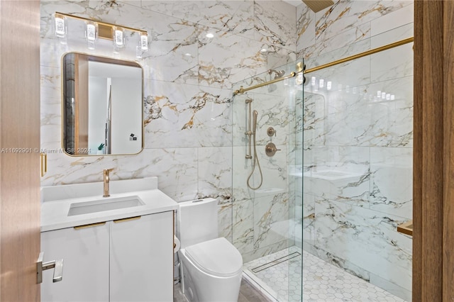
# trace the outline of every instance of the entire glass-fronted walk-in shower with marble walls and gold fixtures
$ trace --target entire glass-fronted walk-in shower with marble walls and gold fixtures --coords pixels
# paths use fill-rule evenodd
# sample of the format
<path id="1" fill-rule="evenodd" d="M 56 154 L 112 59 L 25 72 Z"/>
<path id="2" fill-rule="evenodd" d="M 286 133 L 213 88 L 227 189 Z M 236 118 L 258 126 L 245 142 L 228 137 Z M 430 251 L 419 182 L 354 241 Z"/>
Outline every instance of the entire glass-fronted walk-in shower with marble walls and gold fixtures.
<path id="1" fill-rule="evenodd" d="M 412 240 L 397 226 L 412 213 L 412 29 L 306 60 L 305 84 L 234 96 L 233 244 L 276 301 L 411 301 Z M 363 55 L 330 65 L 350 52 Z"/>

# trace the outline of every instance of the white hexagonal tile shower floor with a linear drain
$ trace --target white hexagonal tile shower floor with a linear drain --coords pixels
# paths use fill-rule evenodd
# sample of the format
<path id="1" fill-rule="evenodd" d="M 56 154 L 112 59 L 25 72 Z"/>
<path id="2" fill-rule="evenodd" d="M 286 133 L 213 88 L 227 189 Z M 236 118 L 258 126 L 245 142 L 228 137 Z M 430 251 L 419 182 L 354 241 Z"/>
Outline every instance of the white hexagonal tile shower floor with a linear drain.
<path id="1" fill-rule="evenodd" d="M 301 301 L 301 254 L 304 302 L 404 301 L 298 247 L 245 263 L 243 270 L 276 301 Z"/>

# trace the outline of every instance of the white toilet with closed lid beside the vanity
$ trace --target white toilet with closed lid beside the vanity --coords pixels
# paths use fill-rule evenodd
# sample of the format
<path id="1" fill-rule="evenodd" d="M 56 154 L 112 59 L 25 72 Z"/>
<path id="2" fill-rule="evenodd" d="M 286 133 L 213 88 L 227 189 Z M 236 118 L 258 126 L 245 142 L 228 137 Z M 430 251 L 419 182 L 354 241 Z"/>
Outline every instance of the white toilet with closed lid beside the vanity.
<path id="1" fill-rule="evenodd" d="M 216 199 L 179 203 L 177 237 L 184 296 L 190 302 L 238 301 L 243 258 L 218 237 Z"/>

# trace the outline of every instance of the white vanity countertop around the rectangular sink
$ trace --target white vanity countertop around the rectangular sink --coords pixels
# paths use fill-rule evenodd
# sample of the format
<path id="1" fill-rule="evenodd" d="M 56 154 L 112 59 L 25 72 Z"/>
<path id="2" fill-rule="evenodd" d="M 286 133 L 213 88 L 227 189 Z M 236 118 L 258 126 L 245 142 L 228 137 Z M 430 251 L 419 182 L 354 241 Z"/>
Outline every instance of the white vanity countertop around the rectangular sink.
<path id="1" fill-rule="evenodd" d="M 83 189 L 79 187 L 78 189 Z M 121 198 L 126 196 L 138 196 L 143 206 L 133 206 L 130 208 L 121 208 L 109 211 L 98 211 L 81 215 L 68 216 L 72 203 L 96 201 L 102 199 Z M 109 220 L 128 218 L 134 216 L 143 216 L 153 213 L 177 210 L 178 203 L 164 194 L 159 189 L 145 189 L 143 191 L 131 191 L 117 194 L 111 194 L 110 197 L 84 196 L 77 198 L 65 198 L 51 201 L 43 201 L 41 204 L 41 232 L 57 230 L 61 228 L 72 228 L 77 225 L 87 225 L 91 223 L 100 223 Z"/>

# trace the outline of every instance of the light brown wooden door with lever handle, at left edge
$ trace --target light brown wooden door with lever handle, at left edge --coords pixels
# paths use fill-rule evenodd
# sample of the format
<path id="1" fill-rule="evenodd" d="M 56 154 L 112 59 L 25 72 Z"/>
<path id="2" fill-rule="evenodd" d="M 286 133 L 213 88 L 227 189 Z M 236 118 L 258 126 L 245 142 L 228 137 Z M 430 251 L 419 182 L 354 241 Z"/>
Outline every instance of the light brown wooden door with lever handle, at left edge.
<path id="1" fill-rule="evenodd" d="M 40 3 L 0 1 L 0 301 L 40 301 Z"/>

